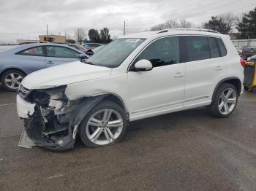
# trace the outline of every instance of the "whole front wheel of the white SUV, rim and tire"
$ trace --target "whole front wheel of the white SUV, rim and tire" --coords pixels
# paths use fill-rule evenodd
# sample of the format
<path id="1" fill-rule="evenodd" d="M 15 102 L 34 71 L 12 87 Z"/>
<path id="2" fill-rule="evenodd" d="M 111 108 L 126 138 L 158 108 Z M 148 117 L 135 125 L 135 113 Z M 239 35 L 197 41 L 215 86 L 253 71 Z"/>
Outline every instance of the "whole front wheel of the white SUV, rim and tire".
<path id="1" fill-rule="evenodd" d="M 116 144 L 127 131 L 127 119 L 121 106 L 113 101 L 97 104 L 81 122 L 80 139 L 87 147 Z"/>

